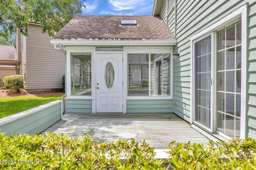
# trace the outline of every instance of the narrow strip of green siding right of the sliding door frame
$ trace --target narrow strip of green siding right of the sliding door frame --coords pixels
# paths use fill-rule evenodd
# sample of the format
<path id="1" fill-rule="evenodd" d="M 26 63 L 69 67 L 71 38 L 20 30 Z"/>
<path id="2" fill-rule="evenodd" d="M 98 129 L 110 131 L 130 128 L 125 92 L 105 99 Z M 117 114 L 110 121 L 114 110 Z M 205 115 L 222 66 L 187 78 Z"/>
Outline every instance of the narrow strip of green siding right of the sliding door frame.
<path id="1" fill-rule="evenodd" d="M 247 128 L 246 135 L 256 139 L 256 2 L 249 4 L 248 8 L 248 74 L 247 74 L 247 102 L 246 108 Z"/>

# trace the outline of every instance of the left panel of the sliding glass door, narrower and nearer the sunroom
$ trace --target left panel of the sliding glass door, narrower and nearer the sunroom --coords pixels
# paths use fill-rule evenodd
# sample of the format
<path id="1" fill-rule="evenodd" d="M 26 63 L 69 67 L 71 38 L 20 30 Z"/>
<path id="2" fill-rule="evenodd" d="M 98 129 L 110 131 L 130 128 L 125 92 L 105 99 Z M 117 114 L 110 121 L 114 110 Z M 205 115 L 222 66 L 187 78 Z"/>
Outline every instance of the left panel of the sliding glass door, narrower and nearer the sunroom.
<path id="1" fill-rule="evenodd" d="M 194 43 L 194 122 L 211 129 L 212 35 Z"/>

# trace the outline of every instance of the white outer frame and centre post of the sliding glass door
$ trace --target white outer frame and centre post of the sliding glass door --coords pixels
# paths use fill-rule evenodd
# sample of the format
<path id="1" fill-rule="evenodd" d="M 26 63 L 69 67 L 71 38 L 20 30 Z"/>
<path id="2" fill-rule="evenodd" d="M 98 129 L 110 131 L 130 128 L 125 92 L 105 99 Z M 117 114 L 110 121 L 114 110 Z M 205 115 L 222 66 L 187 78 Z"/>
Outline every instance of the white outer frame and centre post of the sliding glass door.
<path id="1" fill-rule="evenodd" d="M 247 70 L 247 65 L 246 65 L 246 60 L 247 60 L 247 5 L 243 5 L 239 8 L 237 8 L 236 10 L 234 10 L 233 12 L 229 13 L 228 15 L 224 16 L 222 19 L 218 20 L 217 22 L 213 23 L 212 25 L 210 25 L 210 27 L 205 28 L 204 30 L 202 30 L 201 32 L 197 33 L 196 35 L 192 36 L 190 38 L 190 58 L 191 58 L 191 63 L 190 63 L 190 70 L 191 70 L 191 78 L 190 78 L 190 82 L 191 82 L 191 88 L 190 88 L 190 94 L 191 94 L 191 98 L 194 98 L 195 94 L 194 94 L 194 87 L 195 87 L 195 82 L 194 82 L 194 60 L 192 60 L 194 58 L 194 41 L 196 39 L 199 39 L 201 37 L 204 37 L 205 35 L 214 32 L 214 38 L 213 38 L 213 48 L 212 48 L 212 52 L 214 53 L 214 58 L 216 58 L 216 31 L 217 30 L 221 30 L 223 28 L 225 28 L 227 25 L 231 25 L 232 23 L 238 22 L 239 20 L 242 21 L 242 52 L 241 52 L 241 56 L 244 56 L 241 58 L 241 67 L 242 67 L 242 71 L 241 71 L 241 126 L 240 126 L 240 138 L 245 139 L 245 130 L 246 130 L 246 80 L 247 80 L 247 74 L 246 74 L 246 70 Z M 212 43 L 212 44 L 213 44 Z M 214 60 L 214 72 L 216 71 L 216 64 L 215 64 L 215 60 Z M 213 68 L 212 68 L 213 69 Z M 213 73 L 214 73 L 213 72 Z M 215 74 L 215 73 L 214 73 Z M 214 75 L 214 79 L 213 79 L 213 84 L 214 84 L 214 88 L 216 89 L 216 83 L 215 80 L 217 80 L 215 78 L 216 76 Z M 215 97 L 215 90 L 214 90 L 214 97 Z M 215 115 L 215 107 L 216 107 L 216 97 L 213 100 L 213 105 L 214 107 L 212 107 L 212 109 L 214 109 L 213 113 L 214 113 L 214 117 L 212 118 L 212 121 L 214 123 L 212 123 L 211 126 L 213 126 L 212 131 L 215 133 L 215 130 L 217 129 L 217 117 Z M 190 123 L 193 124 L 194 123 L 194 104 L 195 104 L 195 100 L 191 99 L 190 100 L 190 106 L 191 106 L 191 115 L 190 115 Z"/>

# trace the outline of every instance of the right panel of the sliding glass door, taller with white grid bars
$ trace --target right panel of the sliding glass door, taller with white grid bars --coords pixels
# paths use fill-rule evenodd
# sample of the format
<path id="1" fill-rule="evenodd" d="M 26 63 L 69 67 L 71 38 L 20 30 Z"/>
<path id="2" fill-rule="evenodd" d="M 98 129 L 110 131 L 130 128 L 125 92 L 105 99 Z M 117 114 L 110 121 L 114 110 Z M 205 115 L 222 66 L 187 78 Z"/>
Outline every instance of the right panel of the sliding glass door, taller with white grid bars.
<path id="1" fill-rule="evenodd" d="M 240 137 L 241 22 L 218 32 L 217 131 Z"/>

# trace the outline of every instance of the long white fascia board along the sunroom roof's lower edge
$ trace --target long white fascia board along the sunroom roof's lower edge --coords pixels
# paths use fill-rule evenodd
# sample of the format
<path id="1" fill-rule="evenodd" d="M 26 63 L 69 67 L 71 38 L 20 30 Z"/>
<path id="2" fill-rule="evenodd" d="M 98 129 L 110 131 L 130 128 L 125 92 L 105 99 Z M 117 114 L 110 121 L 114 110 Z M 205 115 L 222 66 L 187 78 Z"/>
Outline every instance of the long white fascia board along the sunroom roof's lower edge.
<path id="1" fill-rule="evenodd" d="M 51 40 L 51 44 L 66 46 L 175 46 L 177 40 Z"/>

